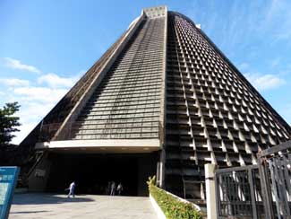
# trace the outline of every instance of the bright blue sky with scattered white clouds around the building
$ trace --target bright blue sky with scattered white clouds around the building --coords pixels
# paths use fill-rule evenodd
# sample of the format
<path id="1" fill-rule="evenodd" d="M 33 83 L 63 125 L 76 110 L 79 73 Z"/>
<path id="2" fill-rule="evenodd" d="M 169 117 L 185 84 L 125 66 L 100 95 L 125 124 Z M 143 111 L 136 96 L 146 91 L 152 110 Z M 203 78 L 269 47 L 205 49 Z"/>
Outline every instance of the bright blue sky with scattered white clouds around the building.
<path id="1" fill-rule="evenodd" d="M 291 124 L 291 1 L 0 1 L 0 106 L 19 101 L 24 136 L 144 7 L 184 13 Z"/>

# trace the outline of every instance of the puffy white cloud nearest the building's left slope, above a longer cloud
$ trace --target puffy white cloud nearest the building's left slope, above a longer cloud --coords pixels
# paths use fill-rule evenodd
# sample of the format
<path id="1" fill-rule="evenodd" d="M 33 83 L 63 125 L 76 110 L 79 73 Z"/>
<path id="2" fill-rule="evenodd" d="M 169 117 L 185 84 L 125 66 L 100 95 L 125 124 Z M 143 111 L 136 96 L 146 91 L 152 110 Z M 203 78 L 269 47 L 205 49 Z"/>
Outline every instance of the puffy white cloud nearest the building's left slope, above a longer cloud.
<path id="1" fill-rule="evenodd" d="M 61 77 L 54 73 L 45 74 L 39 77 L 38 83 L 47 84 L 49 87 L 72 87 L 78 77 Z"/>

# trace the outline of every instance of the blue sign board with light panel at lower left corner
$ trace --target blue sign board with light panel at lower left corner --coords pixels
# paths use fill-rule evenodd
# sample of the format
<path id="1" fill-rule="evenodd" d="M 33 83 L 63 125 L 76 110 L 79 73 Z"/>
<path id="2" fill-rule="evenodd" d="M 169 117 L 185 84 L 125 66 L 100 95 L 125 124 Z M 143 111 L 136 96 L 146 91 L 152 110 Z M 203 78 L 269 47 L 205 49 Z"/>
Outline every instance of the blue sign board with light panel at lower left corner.
<path id="1" fill-rule="evenodd" d="M 0 219 L 8 218 L 18 173 L 18 167 L 0 167 Z"/>

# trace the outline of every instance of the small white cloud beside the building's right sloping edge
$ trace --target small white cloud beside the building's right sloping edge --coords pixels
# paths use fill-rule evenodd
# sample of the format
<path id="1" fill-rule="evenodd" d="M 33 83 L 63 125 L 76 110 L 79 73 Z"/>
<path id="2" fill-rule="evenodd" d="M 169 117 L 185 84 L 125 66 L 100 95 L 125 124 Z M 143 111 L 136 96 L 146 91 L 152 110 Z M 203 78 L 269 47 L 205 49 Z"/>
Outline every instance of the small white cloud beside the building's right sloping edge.
<path id="1" fill-rule="evenodd" d="M 259 91 L 274 89 L 286 83 L 284 79 L 274 74 L 244 74 L 244 76 Z"/>

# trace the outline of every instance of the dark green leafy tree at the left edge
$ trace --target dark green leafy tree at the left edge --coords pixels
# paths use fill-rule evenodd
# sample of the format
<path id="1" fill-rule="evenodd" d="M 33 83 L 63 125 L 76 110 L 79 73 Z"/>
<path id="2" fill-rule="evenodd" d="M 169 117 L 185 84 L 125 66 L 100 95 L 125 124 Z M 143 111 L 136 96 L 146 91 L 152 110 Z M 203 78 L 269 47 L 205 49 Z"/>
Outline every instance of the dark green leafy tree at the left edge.
<path id="1" fill-rule="evenodd" d="M 19 117 L 15 117 L 14 113 L 21 106 L 18 102 L 6 103 L 3 109 L 0 109 L 0 145 L 9 145 L 14 135 L 13 132 L 18 132 L 21 124 Z"/>

